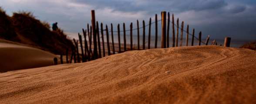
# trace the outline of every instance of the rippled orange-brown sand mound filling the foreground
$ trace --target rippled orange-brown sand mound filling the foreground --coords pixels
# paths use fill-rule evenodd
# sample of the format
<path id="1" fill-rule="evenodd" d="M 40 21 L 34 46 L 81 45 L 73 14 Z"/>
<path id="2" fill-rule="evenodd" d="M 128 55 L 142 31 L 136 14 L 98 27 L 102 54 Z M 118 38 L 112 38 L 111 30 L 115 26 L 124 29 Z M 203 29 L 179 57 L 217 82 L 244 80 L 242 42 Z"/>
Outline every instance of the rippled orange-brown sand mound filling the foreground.
<path id="1" fill-rule="evenodd" d="M 253 50 L 147 49 L 0 73 L 0 104 L 256 104 L 255 82 Z"/>

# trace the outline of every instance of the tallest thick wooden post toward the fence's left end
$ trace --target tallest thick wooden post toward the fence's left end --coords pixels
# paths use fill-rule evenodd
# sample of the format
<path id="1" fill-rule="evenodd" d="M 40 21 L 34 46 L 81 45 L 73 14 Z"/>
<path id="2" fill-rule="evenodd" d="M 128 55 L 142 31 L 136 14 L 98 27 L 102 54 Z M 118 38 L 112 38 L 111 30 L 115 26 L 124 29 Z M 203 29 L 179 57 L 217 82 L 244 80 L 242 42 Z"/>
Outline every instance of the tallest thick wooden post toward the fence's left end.
<path id="1" fill-rule="evenodd" d="M 95 13 L 94 13 L 94 10 L 91 10 L 91 24 L 92 24 L 92 32 L 93 32 L 93 46 L 94 46 L 94 49 L 93 49 L 93 56 L 94 56 L 94 59 L 97 59 L 98 58 L 98 50 L 97 50 L 97 35 L 96 35 L 96 24 L 95 24 Z"/>

